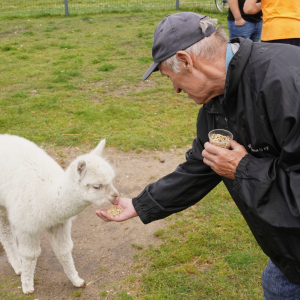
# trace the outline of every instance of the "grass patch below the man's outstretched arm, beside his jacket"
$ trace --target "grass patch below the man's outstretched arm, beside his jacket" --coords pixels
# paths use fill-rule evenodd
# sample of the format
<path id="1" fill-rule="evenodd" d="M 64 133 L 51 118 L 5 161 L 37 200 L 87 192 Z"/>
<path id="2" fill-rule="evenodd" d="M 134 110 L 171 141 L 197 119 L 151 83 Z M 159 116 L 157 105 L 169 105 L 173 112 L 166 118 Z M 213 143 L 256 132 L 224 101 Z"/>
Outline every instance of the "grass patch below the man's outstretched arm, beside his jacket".
<path id="1" fill-rule="evenodd" d="M 167 219 L 169 226 L 155 234 L 161 246 L 137 256 L 128 299 L 263 299 L 260 276 L 267 258 L 223 184 Z"/>

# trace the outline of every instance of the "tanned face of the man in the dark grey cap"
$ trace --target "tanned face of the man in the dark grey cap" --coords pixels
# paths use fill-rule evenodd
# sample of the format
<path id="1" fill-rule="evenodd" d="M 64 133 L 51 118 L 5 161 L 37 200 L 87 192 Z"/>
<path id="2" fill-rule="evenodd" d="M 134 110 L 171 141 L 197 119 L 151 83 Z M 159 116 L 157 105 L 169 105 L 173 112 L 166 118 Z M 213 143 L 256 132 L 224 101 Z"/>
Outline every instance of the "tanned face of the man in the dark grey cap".
<path id="1" fill-rule="evenodd" d="M 204 104 L 213 97 L 222 94 L 219 88 L 215 86 L 214 76 L 197 68 L 196 64 L 189 65 L 188 68 L 182 68 L 179 73 L 174 73 L 166 65 L 159 65 L 163 76 L 171 79 L 176 93 L 183 91 L 196 104 Z"/>

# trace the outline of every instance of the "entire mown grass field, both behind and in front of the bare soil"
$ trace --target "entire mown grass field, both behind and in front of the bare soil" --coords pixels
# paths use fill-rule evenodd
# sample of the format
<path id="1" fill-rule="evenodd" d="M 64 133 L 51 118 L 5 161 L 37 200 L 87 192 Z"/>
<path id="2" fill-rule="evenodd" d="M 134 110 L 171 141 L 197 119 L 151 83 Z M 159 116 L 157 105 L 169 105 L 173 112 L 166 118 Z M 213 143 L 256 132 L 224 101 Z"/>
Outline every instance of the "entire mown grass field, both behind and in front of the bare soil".
<path id="1" fill-rule="evenodd" d="M 1 19 L 0 133 L 48 147 L 106 138 L 137 153 L 191 144 L 199 106 L 158 73 L 141 80 L 153 31 L 174 12 Z M 210 16 L 227 28 L 226 15 Z M 222 184 L 168 220 L 163 244 L 137 256 L 130 294 L 111 299 L 262 299 L 267 259 Z M 8 290 L 2 281 L 1 299 L 33 299 Z"/>

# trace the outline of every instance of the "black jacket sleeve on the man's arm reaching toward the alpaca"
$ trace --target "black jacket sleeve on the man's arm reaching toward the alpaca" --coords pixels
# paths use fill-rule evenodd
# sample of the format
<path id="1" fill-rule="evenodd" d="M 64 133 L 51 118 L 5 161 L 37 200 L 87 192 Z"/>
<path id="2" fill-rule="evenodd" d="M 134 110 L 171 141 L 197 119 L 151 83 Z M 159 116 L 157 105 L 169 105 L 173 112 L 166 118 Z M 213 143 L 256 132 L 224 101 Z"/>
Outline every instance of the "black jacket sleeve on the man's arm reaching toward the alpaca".
<path id="1" fill-rule="evenodd" d="M 149 184 L 132 200 L 143 223 L 165 218 L 192 206 L 221 181 L 219 175 L 203 163 L 203 149 L 203 143 L 197 137 L 193 148 L 186 153 L 186 162 L 173 173 Z"/>

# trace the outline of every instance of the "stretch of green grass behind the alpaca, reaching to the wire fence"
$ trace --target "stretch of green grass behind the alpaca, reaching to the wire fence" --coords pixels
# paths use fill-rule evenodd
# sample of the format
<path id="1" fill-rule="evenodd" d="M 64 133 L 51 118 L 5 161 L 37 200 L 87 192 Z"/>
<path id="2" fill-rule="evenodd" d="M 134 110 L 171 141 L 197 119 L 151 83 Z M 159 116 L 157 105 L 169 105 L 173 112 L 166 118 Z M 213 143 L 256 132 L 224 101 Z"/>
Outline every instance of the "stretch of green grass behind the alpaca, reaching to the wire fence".
<path id="1" fill-rule="evenodd" d="M 53 146 L 94 147 L 106 138 L 137 151 L 191 144 L 199 107 L 158 73 L 141 80 L 165 15 L 0 22 L 0 133 Z"/>

